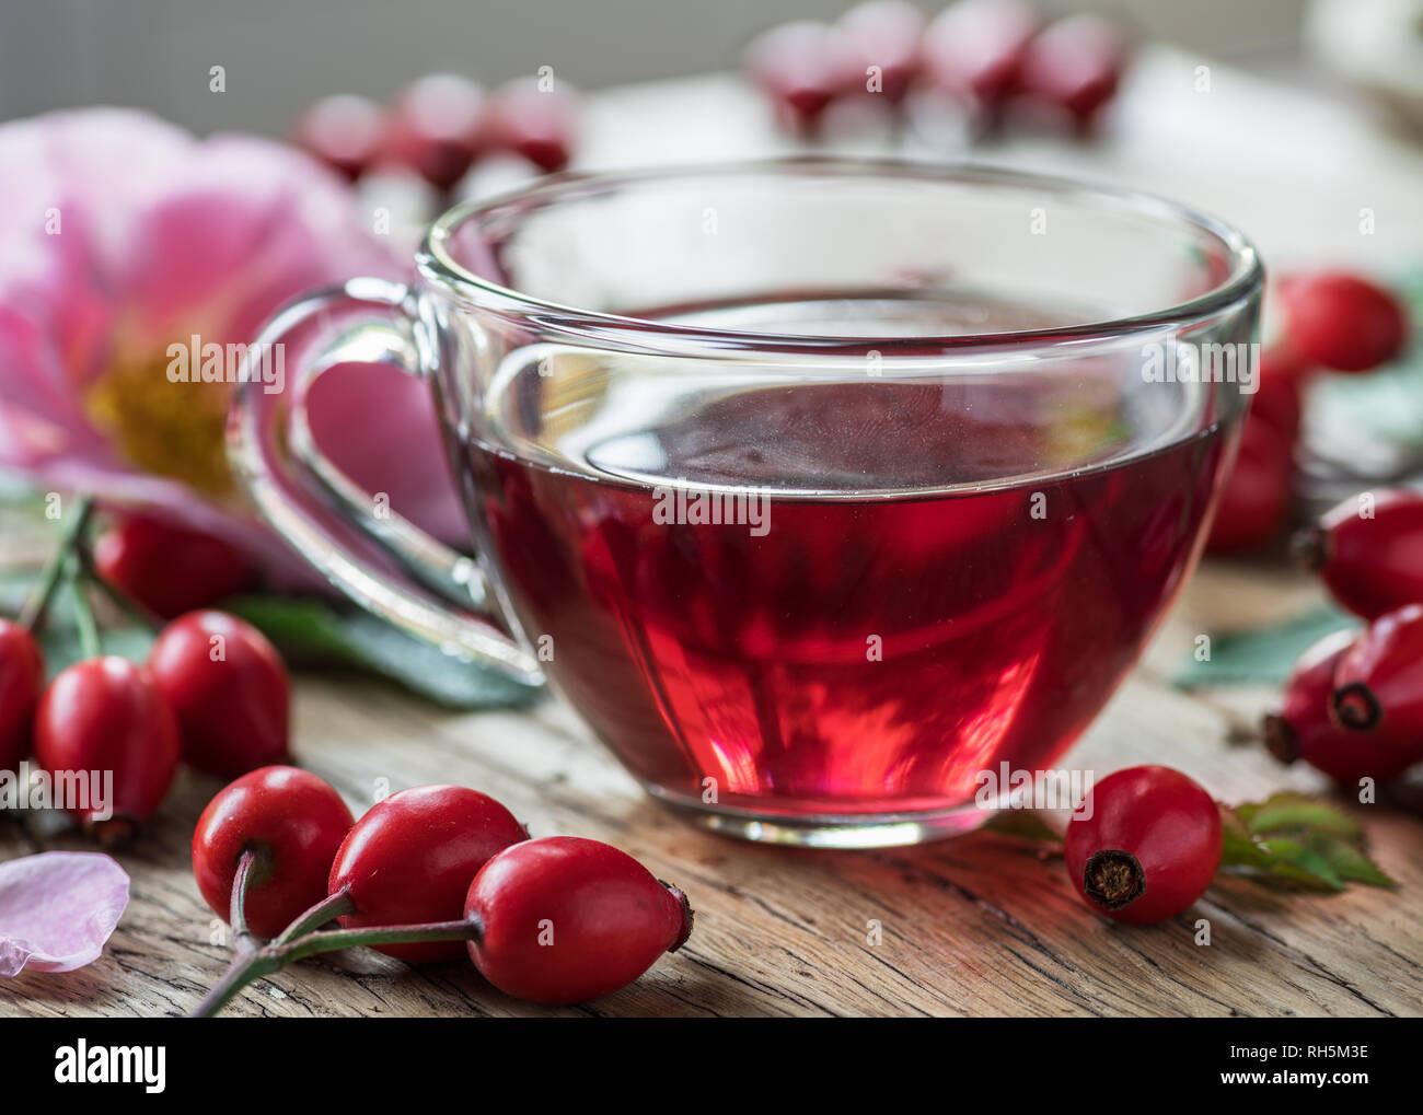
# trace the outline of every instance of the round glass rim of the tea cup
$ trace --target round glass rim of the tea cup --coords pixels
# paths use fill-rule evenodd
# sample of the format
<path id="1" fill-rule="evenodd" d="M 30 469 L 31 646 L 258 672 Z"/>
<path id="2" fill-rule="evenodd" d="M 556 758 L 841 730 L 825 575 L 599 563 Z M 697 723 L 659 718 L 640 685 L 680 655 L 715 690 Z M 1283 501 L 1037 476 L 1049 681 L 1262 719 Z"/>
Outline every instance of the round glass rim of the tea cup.
<path id="1" fill-rule="evenodd" d="M 652 317 L 635 317 L 588 310 L 578 306 L 525 294 L 475 274 L 450 252 L 450 240 L 465 222 L 487 218 L 509 206 L 524 209 L 558 203 L 561 199 L 595 196 L 618 188 L 677 178 L 736 175 L 787 175 L 807 178 L 864 178 L 948 182 L 980 186 L 1029 188 L 1100 203 L 1120 205 L 1147 216 L 1174 219 L 1205 232 L 1228 252 L 1229 270 L 1210 290 L 1160 310 L 1084 321 L 1053 329 L 1009 330 L 998 333 L 956 333 L 948 336 L 867 337 L 830 334 L 783 334 L 751 330 L 713 329 Z M 850 354 L 877 350 L 885 357 L 896 350 L 924 356 L 925 347 L 943 351 L 1035 348 L 1047 344 L 1113 341 L 1140 333 L 1155 333 L 1173 324 L 1195 321 L 1228 310 L 1248 299 L 1264 283 L 1264 266 L 1255 245 L 1220 218 L 1146 191 L 1089 182 L 1066 175 L 1016 171 L 972 161 L 921 162 L 895 158 L 845 158 L 834 155 L 795 155 L 733 162 L 642 166 L 618 171 L 562 172 L 539 178 L 532 185 L 487 199 L 457 205 L 440 215 L 425 232 L 416 253 L 417 270 L 430 282 L 464 293 L 480 309 L 491 310 L 529 327 L 556 330 L 581 338 L 592 347 L 616 347 L 677 356 L 726 356 L 727 351 L 766 354 Z"/>

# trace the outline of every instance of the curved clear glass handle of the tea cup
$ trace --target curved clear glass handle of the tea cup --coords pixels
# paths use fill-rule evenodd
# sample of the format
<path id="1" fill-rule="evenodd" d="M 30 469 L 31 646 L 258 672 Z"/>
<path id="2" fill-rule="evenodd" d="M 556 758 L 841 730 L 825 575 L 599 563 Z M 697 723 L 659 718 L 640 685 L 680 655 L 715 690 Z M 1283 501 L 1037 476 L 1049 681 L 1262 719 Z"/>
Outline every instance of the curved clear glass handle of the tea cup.
<path id="1" fill-rule="evenodd" d="M 312 437 L 306 400 L 323 371 L 384 364 L 424 378 L 414 323 L 408 287 L 383 279 L 353 279 L 277 313 L 243 358 L 228 459 L 258 513 L 357 604 L 447 654 L 541 684 L 534 656 L 498 629 L 478 563 L 394 511 L 377 516 L 376 499 Z M 290 374 L 285 393 L 270 390 L 263 360 Z M 360 555 L 371 549 L 363 535 L 379 543 L 376 560 Z"/>

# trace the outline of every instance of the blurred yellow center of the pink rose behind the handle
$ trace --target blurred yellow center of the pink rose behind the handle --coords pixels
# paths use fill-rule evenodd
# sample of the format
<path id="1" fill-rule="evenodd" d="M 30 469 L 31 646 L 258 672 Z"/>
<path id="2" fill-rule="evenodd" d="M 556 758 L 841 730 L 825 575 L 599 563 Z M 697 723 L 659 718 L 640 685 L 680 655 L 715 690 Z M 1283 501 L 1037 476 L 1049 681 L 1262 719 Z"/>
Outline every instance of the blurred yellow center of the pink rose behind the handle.
<path id="1" fill-rule="evenodd" d="M 222 430 L 232 385 L 172 383 L 169 358 L 118 360 L 85 394 L 94 425 L 135 466 L 172 476 L 208 498 L 232 494 Z"/>

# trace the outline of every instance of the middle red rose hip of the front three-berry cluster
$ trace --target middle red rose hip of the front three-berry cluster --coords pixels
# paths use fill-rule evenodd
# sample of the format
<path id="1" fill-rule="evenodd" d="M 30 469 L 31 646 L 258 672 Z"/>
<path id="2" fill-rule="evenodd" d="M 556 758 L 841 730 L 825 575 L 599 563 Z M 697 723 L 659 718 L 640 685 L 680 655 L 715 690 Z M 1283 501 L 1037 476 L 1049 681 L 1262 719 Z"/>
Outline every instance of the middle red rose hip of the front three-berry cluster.
<path id="1" fill-rule="evenodd" d="M 347 889 L 347 929 L 454 922 L 470 880 L 497 852 L 527 841 L 494 798 L 465 786 L 416 786 L 373 805 L 332 863 L 329 893 Z M 403 960 L 457 960 L 461 941 L 379 944 Z"/>

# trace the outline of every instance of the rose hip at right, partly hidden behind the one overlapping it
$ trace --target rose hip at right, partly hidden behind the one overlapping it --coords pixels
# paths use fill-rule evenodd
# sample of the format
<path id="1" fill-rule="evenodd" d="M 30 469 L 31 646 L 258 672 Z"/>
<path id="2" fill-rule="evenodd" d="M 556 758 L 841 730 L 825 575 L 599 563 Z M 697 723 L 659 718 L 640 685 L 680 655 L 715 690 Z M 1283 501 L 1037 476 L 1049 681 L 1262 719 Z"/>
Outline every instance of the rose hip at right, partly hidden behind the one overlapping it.
<path id="1" fill-rule="evenodd" d="M 1331 718 L 1335 671 L 1353 639 L 1352 631 L 1335 631 L 1299 657 L 1285 683 L 1282 708 L 1265 717 L 1265 747 L 1281 762 L 1303 759 L 1340 785 L 1358 785 L 1362 778 L 1386 782 L 1423 758 L 1423 748 L 1410 751 L 1376 734 L 1340 728 Z"/>

